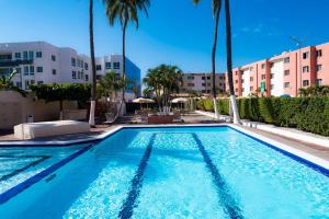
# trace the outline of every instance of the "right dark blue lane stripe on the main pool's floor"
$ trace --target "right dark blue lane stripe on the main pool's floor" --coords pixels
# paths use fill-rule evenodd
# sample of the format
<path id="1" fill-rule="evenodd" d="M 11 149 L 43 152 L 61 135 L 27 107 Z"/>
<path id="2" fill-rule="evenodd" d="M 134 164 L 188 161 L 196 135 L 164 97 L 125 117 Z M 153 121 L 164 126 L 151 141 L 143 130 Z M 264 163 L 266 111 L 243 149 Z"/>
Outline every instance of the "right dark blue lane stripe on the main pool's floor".
<path id="1" fill-rule="evenodd" d="M 208 168 L 209 172 L 213 176 L 213 182 L 217 186 L 217 194 L 219 197 L 220 204 L 224 206 L 224 210 L 230 218 L 240 219 L 243 218 L 242 211 L 237 205 L 235 198 L 229 194 L 229 187 L 225 182 L 224 176 L 220 175 L 218 169 L 213 163 L 209 154 L 205 150 L 204 146 L 202 145 L 201 140 L 196 136 L 196 134 L 192 134 L 194 141 L 196 142 L 198 150 Z"/>

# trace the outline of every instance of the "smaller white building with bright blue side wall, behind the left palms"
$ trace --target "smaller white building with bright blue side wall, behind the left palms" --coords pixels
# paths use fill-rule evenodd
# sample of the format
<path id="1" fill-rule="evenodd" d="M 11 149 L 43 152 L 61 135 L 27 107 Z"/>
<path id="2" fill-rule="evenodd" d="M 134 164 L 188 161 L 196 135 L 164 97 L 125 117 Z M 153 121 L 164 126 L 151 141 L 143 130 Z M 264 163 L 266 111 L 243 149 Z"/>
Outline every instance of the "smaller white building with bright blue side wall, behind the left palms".
<path id="1" fill-rule="evenodd" d="M 140 69 L 127 57 L 126 60 L 126 77 L 128 79 L 133 79 L 136 82 L 138 88 L 138 96 L 140 95 Z M 101 78 L 109 73 L 110 71 L 114 71 L 117 76 L 122 76 L 123 73 L 123 56 L 122 55 L 111 55 L 104 56 L 101 58 L 97 58 L 97 76 Z M 133 100 L 135 97 L 134 92 L 131 89 L 126 90 L 126 100 Z"/>

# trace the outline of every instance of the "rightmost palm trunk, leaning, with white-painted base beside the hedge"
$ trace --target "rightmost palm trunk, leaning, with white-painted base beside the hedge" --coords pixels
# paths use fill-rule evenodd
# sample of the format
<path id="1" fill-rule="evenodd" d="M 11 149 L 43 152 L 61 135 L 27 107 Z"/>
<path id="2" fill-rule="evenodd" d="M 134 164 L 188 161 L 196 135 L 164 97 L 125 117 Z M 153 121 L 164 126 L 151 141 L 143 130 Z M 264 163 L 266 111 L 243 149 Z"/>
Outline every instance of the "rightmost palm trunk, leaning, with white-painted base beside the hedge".
<path id="1" fill-rule="evenodd" d="M 234 113 L 234 124 L 241 124 L 238 112 L 237 100 L 235 95 L 235 89 L 232 83 L 232 60 L 231 60 L 231 33 L 230 33 L 230 11 L 229 0 L 225 0 L 225 15 L 226 15 L 226 55 L 227 55 L 227 74 L 229 84 L 229 99 Z"/>

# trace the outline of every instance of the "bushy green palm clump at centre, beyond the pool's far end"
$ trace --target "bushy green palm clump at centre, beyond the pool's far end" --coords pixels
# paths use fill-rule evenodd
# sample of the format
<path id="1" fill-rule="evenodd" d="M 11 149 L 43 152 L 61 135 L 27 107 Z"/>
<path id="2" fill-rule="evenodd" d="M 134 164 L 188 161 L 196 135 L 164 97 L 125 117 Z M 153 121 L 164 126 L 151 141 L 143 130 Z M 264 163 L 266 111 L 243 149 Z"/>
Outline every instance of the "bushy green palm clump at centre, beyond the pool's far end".
<path id="1" fill-rule="evenodd" d="M 143 80 L 146 91 L 154 93 L 163 113 L 169 113 L 171 94 L 179 93 L 182 70 L 177 66 L 161 65 L 147 71 Z"/>

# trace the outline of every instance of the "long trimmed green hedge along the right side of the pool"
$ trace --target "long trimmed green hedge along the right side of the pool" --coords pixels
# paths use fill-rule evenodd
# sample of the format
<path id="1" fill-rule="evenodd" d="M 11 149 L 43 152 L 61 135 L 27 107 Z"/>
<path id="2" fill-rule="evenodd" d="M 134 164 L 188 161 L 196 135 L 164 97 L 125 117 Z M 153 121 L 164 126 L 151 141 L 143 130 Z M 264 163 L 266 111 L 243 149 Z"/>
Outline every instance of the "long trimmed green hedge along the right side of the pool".
<path id="1" fill-rule="evenodd" d="M 200 110 L 214 111 L 212 100 L 197 103 Z M 219 100 L 220 114 L 228 115 L 228 100 Z M 252 97 L 239 99 L 238 108 L 243 119 L 294 127 L 329 136 L 329 97 Z"/>

